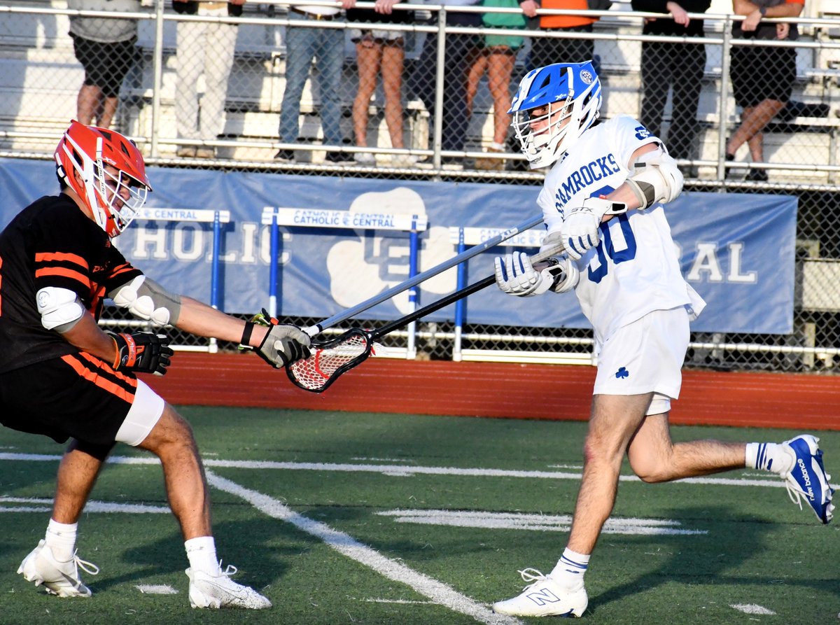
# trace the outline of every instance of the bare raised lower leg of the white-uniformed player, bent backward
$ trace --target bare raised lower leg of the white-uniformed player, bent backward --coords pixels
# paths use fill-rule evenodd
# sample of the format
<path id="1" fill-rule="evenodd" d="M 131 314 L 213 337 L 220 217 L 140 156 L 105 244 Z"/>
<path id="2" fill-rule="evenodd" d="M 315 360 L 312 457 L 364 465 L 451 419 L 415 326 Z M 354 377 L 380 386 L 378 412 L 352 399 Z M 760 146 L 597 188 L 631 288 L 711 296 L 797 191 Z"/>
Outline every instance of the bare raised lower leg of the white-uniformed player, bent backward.
<path id="1" fill-rule="evenodd" d="M 674 444 L 665 412 L 644 418 L 627 448 L 627 459 L 633 473 L 653 484 L 743 469 L 745 447 L 718 440 Z"/>

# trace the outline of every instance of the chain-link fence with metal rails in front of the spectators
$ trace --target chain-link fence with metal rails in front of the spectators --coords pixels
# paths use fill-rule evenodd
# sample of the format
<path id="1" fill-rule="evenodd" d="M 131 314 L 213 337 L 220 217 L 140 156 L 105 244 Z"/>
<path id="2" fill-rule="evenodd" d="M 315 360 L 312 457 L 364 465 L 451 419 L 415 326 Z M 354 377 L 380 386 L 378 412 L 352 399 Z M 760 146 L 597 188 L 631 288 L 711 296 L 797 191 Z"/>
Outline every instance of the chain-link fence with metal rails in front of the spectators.
<path id="1" fill-rule="evenodd" d="M 663 137 L 686 189 L 799 197 L 794 333 L 694 334 L 688 364 L 837 370 L 836 0 L 809 3 L 765 39 L 745 36 L 725 2 L 690 14 L 685 32 L 630 3 L 541 11 L 554 22 L 486 6 L 410 3 L 388 17 L 372 3 L 346 14 L 323 0 L 308 13 L 279 0 L 235 6 L 0 0 L 0 155 L 49 159 L 68 120 L 84 113 L 81 121 L 109 121 L 136 139 L 150 165 L 538 186 L 543 173 L 528 170 L 509 132 L 512 89 L 532 66 L 591 55 L 602 116 L 632 115 Z M 557 18 L 578 25 L 547 25 Z M 98 36 L 109 23 L 117 34 Z M 759 116 L 760 141 L 742 141 L 758 123 L 748 113 L 761 89 L 790 89 L 790 102 Z M 416 357 L 591 358 L 591 333 L 580 330 L 467 325 L 460 340 L 454 354 L 453 324 L 418 323 Z M 404 347 L 406 334 L 386 344 Z"/>

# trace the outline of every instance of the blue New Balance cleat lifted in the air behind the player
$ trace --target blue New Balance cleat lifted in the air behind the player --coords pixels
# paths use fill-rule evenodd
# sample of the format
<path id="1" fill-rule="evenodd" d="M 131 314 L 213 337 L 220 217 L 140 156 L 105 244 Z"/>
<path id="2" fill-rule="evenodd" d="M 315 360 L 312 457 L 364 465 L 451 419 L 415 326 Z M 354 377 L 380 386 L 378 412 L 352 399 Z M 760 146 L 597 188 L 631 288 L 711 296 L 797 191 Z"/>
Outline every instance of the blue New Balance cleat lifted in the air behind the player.
<path id="1" fill-rule="evenodd" d="M 811 509 L 822 523 L 830 523 L 834 512 L 834 489 L 829 483 L 832 476 L 826 473 L 822 465 L 822 449 L 819 448 L 819 442 L 820 439 L 811 434 L 801 434 L 795 439 L 785 441 L 784 444 L 788 445 L 796 460 L 793 469 L 782 477 L 785 478 L 790 501 L 798 504 L 801 509 L 801 500 L 804 498 L 811 504 Z"/>

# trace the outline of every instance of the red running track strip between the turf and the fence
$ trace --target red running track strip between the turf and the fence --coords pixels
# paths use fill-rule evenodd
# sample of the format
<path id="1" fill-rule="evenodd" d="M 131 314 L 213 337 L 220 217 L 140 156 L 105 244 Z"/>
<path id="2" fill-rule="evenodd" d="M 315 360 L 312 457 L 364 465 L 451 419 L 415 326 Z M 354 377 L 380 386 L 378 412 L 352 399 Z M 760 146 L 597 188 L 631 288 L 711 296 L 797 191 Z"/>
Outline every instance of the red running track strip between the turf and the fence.
<path id="1" fill-rule="evenodd" d="M 144 380 L 174 404 L 585 420 L 595 368 L 371 359 L 318 394 L 253 354 L 177 353 Z M 671 423 L 838 430 L 838 406 L 840 377 L 685 370 Z"/>

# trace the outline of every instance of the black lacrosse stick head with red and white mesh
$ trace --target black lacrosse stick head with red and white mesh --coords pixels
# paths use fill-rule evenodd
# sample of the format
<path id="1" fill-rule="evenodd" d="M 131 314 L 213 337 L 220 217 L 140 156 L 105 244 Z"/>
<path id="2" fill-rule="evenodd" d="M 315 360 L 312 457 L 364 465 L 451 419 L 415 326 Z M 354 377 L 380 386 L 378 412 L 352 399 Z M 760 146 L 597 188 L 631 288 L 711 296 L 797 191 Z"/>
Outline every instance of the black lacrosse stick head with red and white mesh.
<path id="1" fill-rule="evenodd" d="M 286 375 L 304 391 L 326 391 L 339 376 L 367 360 L 374 348 L 374 338 L 365 330 L 354 328 L 325 341 L 312 341 L 309 358 L 286 366 Z"/>

